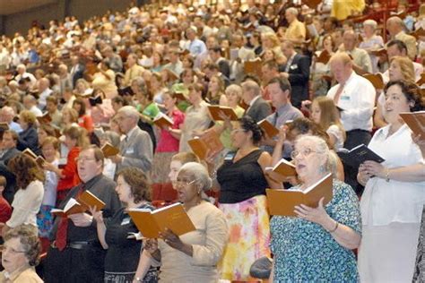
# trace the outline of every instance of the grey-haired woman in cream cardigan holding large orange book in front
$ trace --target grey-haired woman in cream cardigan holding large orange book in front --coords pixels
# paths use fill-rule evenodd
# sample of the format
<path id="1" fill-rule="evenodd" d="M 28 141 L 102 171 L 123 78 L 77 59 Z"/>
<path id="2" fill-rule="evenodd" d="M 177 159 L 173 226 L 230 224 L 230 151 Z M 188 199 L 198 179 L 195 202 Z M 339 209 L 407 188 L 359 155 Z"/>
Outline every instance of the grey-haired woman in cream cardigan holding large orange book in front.
<path id="1" fill-rule="evenodd" d="M 145 241 L 134 282 L 142 282 L 154 263 L 160 264 L 160 282 L 217 282 L 217 262 L 228 241 L 228 226 L 221 210 L 203 200 L 211 186 L 200 163 L 188 162 L 180 168 L 175 182 L 178 200 L 196 230 L 182 236 L 168 230 L 161 239 Z"/>

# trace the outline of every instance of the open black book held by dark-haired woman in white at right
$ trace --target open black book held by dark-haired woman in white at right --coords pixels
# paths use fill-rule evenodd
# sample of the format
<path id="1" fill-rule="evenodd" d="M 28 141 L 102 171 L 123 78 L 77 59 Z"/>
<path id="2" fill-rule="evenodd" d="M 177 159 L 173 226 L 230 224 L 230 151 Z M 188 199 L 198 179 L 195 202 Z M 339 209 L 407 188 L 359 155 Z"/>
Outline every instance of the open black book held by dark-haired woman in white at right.
<path id="1" fill-rule="evenodd" d="M 377 155 L 377 153 L 370 150 L 366 145 L 360 144 L 351 150 L 341 149 L 338 151 L 338 156 L 343 159 L 345 164 L 351 167 L 360 167 L 360 164 L 367 161 L 376 161 L 382 163 L 385 159 Z"/>

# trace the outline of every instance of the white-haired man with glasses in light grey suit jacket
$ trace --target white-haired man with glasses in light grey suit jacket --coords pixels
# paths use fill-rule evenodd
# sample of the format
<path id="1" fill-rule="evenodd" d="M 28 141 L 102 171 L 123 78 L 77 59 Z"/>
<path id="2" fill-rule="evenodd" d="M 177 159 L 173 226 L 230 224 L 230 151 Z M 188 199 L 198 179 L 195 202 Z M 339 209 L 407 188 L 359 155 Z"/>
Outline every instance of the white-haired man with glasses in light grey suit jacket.
<path id="1" fill-rule="evenodd" d="M 119 154 L 110 159 L 117 164 L 117 172 L 124 167 L 138 167 L 148 172 L 152 167 L 153 146 L 149 133 L 137 126 L 139 112 L 131 106 L 121 107 L 117 123 L 126 138 L 121 142 Z"/>

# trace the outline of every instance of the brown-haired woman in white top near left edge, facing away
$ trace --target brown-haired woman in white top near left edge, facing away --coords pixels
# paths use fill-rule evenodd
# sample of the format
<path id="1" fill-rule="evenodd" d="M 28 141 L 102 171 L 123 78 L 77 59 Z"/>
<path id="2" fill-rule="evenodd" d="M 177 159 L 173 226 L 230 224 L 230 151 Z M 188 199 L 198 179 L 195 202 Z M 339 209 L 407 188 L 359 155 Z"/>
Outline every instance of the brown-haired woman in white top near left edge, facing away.
<path id="1" fill-rule="evenodd" d="M 37 229 L 37 213 L 43 201 L 44 172 L 36 161 L 21 153 L 8 163 L 10 171 L 16 176 L 16 185 L 19 188 L 14 194 L 12 217 L 3 227 L 3 235 L 10 228 L 22 224 L 30 224 Z"/>

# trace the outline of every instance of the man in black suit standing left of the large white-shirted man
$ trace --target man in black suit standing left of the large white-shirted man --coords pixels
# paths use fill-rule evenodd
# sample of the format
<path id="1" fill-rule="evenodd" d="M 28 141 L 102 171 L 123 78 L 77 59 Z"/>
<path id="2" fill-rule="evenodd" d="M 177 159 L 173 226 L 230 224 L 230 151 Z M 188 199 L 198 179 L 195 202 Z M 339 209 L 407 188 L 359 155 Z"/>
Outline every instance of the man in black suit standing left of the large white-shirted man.
<path id="1" fill-rule="evenodd" d="M 291 103 L 301 107 L 302 100 L 308 99 L 308 78 L 310 76 L 310 60 L 298 54 L 291 41 L 282 42 L 282 52 L 288 61 L 282 67 L 281 75 L 291 82 Z"/>

